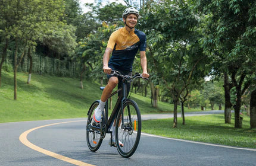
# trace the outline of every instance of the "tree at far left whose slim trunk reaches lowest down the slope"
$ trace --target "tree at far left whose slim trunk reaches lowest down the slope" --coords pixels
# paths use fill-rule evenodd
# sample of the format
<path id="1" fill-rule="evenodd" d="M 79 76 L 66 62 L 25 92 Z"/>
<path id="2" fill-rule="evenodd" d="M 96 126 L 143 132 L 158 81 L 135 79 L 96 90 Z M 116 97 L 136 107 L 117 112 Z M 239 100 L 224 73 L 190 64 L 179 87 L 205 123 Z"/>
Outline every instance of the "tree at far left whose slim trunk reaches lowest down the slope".
<path id="1" fill-rule="evenodd" d="M 17 68 L 28 47 L 35 47 L 36 39 L 48 30 L 49 23 L 55 24 L 63 16 L 61 0 L 1 1 L 1 18 L 4 39 L 14 41 L 14 100 L 17 100 Z M 7 42 L 8 43 L 8 42 Z"/>

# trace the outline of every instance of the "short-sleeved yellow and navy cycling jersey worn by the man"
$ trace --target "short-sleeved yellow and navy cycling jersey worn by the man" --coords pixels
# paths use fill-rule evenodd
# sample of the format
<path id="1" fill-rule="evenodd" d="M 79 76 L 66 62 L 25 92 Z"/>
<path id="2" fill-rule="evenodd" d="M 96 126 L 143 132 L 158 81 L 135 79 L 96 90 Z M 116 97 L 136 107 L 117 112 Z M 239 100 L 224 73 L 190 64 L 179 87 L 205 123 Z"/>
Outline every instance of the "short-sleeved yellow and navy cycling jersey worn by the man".
<path id="1" fill-rule="evenodd" d="M 107 47 L 113 49 L 108 65 L 123 71 L 132 71 L 136 53 L 138 50 L 146 50 L 146 35 L 136 29 L 129 33 L 123 27 L 111 34 Z"/>

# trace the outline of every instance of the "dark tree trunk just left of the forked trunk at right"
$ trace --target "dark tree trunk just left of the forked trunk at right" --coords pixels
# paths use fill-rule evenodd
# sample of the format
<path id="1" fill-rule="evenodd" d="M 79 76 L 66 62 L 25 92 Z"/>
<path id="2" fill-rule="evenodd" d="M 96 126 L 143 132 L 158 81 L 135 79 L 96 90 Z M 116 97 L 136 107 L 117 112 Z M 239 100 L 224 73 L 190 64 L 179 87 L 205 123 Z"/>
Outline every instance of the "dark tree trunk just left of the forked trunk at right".
<path id="1" fill-rule="evenodd" d="M 225 108 L 224 108 L 224 120 L 225 123 L 231 123 L 231 108 L 232 104 L 230 101 L 230 84 L 229 77 L 224 73 L 224 96 L 225 96 Z"/>

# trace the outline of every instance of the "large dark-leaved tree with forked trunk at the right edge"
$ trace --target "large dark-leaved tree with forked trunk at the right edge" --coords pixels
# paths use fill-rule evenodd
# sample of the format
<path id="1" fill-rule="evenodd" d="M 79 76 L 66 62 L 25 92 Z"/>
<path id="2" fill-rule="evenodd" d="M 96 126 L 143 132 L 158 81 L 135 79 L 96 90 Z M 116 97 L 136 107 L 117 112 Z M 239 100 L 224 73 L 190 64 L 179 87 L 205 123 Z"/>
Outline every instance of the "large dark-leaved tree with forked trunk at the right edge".
<path id="1" fill-rule="evenodd" d="M 236 0 L 193 2 L 197 4 L 197 9 L 205 18 L 202 45 L 205 51 L 210 52 L 209 56 L 213 58 L 213 62 L 219 64 L 214 66 L 214 71 L 227 74 L 232 80 L 231 84 L 235 87 L 236 103 L 233 106 L 235 127 L 241 128 L 239 115 L 241 97 L 252 84 L 256 70 L 254 58 L 256 2 Z M 224 86 L 225 91 L 228 91 L 228 85 Z M 230 104 L 225 104 L 225 106 L 230 106 Z"/>

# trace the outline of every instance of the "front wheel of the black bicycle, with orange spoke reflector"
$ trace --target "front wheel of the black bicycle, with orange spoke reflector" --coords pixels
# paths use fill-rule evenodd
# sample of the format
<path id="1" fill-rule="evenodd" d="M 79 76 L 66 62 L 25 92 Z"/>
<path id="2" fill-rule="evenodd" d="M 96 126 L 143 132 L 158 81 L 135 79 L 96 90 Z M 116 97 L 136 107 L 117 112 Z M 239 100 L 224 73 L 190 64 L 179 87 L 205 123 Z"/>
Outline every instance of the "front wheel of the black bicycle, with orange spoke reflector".
<path id="1" fill-rule="evenodd" d="M 122 115 L 123 113 L 123 115 Z M 139 145 L 141 138 L 141 113 L 133 100 L 124 103 L 123 111 L 118 111 L 115 127 L 115 142 L 122 157 L 131 157 Z"/>

